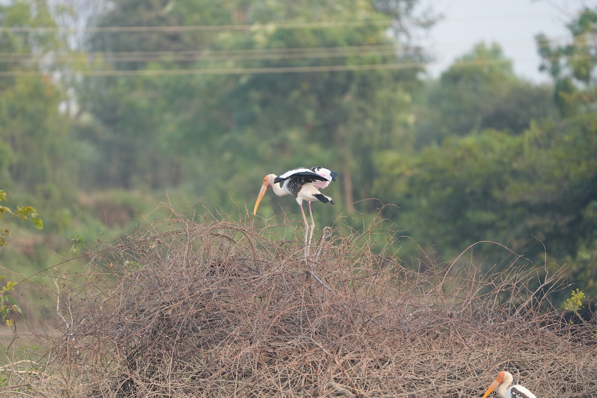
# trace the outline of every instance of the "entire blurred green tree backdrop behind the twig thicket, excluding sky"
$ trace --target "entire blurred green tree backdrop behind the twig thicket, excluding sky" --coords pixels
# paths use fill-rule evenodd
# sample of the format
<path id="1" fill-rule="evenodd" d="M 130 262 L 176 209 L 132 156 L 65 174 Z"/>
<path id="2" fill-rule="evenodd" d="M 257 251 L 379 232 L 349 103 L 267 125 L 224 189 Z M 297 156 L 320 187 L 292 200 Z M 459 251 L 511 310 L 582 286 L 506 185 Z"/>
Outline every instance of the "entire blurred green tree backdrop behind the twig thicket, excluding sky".
<path id="1" fill-rule="evenodd" d="M 2 188 L 47 215 L 44 239 L 67 251 L 69 235 L 127 232 L 165 192 L 244 214 L 263 175 L 322 165 L 340 175 L 318 226 L 362 228 L 380 207 L 365 199 L 378 198 L 440 260 L 491 240 L 567 264 L 594 294 L 597 10 L 570 21 L 565 44 L 537 36 L 553 79 L 540 85 L 497 43 L 423 80 L 432 54 L 417 37 L 432 10 L 421 4 L 4 1 Z M 293 212 L 264 200 L 265 217 Z M 476 252 L 503 260 L 496 246 Z"/>

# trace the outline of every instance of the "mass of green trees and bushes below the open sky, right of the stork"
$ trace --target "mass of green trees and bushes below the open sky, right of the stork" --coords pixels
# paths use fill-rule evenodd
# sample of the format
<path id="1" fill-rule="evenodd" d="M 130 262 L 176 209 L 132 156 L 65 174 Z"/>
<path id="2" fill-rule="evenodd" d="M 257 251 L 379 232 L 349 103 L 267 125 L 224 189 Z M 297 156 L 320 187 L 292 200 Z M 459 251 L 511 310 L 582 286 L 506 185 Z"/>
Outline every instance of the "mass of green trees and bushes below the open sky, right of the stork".
<path id="1" fill-rule="evenodd" d="M 449 260 L 475 242 L 498 242 L 532 263 L 567 264 L 571 280 L 597 291 L 597 113 L 589 112 L 595 60 L 586 45 L 594 15 L 584 10 L 570 24 L 574 45 L 540 48 L 556 90 L 570 84 L 570 101 L 556 101 L 560 110 L 562 104 L 574 110 L 562 112 L 564 119 L 554 115 L 545 87 L 527 90 L 507 64 L 458 64 L 484 59 L 488 49 L 481 46 L 429 91 L 437 95 L 428 94 L 431 109 L 423 110 L 437 119 L 422 125 L 428 130 L 417 129 L 423 134 L 417 139 L 439 144 L 423 145 L 413 156 L 378 153 L 383 178 L 376 195 L 399 198 L 392 215 L 423 248 Z M 407 252 L 421 255 L 418 248 Z M 493 266 L 504 252 L 481 245 L 475 255 Z"/>

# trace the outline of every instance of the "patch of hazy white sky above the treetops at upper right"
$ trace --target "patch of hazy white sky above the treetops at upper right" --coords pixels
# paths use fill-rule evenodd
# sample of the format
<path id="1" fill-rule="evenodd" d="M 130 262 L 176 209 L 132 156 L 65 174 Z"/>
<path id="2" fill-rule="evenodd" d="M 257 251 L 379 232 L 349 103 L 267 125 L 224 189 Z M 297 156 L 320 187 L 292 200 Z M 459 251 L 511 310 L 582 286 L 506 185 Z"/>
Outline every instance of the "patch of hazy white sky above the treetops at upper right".
<path id="1" fill-rule="evenodd" d="M 565 40 L 566 24 L 584 5 L 595 7 L 597 0 L 424 0 L 444 19 L 430 30 L 425 47 L 436 54 L 428 70 L 434 77 L 472 50 L 480 41 L 497 42 L 513 60 L 516 75 L 535 82 L 549 81 L 538 71 L 535 35 Z"/>

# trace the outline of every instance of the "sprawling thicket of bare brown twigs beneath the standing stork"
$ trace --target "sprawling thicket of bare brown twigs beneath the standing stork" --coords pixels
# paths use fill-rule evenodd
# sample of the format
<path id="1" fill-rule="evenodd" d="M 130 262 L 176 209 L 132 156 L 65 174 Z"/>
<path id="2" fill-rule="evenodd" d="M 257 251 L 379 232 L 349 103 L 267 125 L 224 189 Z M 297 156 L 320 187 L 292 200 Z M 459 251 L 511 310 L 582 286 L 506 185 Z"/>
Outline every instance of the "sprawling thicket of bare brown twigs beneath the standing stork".
<path id="1" fill-rule="evenodd" d="M 174 214 L 91 254 L 64 333 L 5 368 L 4 394 L 480 397 L 505 369 L 538 397 L 597 396 L 597 331 L 561 322 L 558 276 L 411 270 L 373 254 L 373 230 L 326 230 L 305 261 L 263 231 Z"/>

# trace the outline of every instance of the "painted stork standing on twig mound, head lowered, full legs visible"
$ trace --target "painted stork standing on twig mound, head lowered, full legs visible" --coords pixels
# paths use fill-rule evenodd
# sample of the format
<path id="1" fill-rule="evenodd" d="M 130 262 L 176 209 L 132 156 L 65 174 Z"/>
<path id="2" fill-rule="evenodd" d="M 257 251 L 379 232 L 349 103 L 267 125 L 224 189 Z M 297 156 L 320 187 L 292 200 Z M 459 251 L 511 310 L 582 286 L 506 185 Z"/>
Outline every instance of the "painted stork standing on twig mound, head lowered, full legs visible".
<path id="1" fill-rule="evenodd" d="M 311 211 L 311 202 L 319 200 L 324 203 L 332 203 L 334 201 L 330 196 L 326 196 L 319 192 L 319 189 L 323 189 L 330 185 L 331 181 L 336 181 L 336 171 L 331 171 L 321 166 L 314 166 L 310 169 L 306 167 L 298 167 L 296 169 L 288 170 L 280 175 L 267 174 L 263 178 L 263 184 L 257 202 L 255 202 L 255 208 L 253 214 L 257 214 L 257 207 L 263 199 L 263 196 L 272 187 L 273 193 L 278 196 L 293 195 L 296 199 L 298 206 L 300 206 L 300 212 L 303 214 L 304 221 L 304 257 L 309 256 L 309 246 L 313 237 L 313 231 L 315 230 L 315 221 L 313 221 L 313 213 Z M 278 184 L 279 183 L 279 184 Z M 303 200 L 307 201 L 309 206 L 309 215 L 311 216 L 311 233 L 309 235 L 309 224 L 307 223 L 307 217 L 304 215 Z M 308 244 L 307 244 L 307 236 Z"/>

